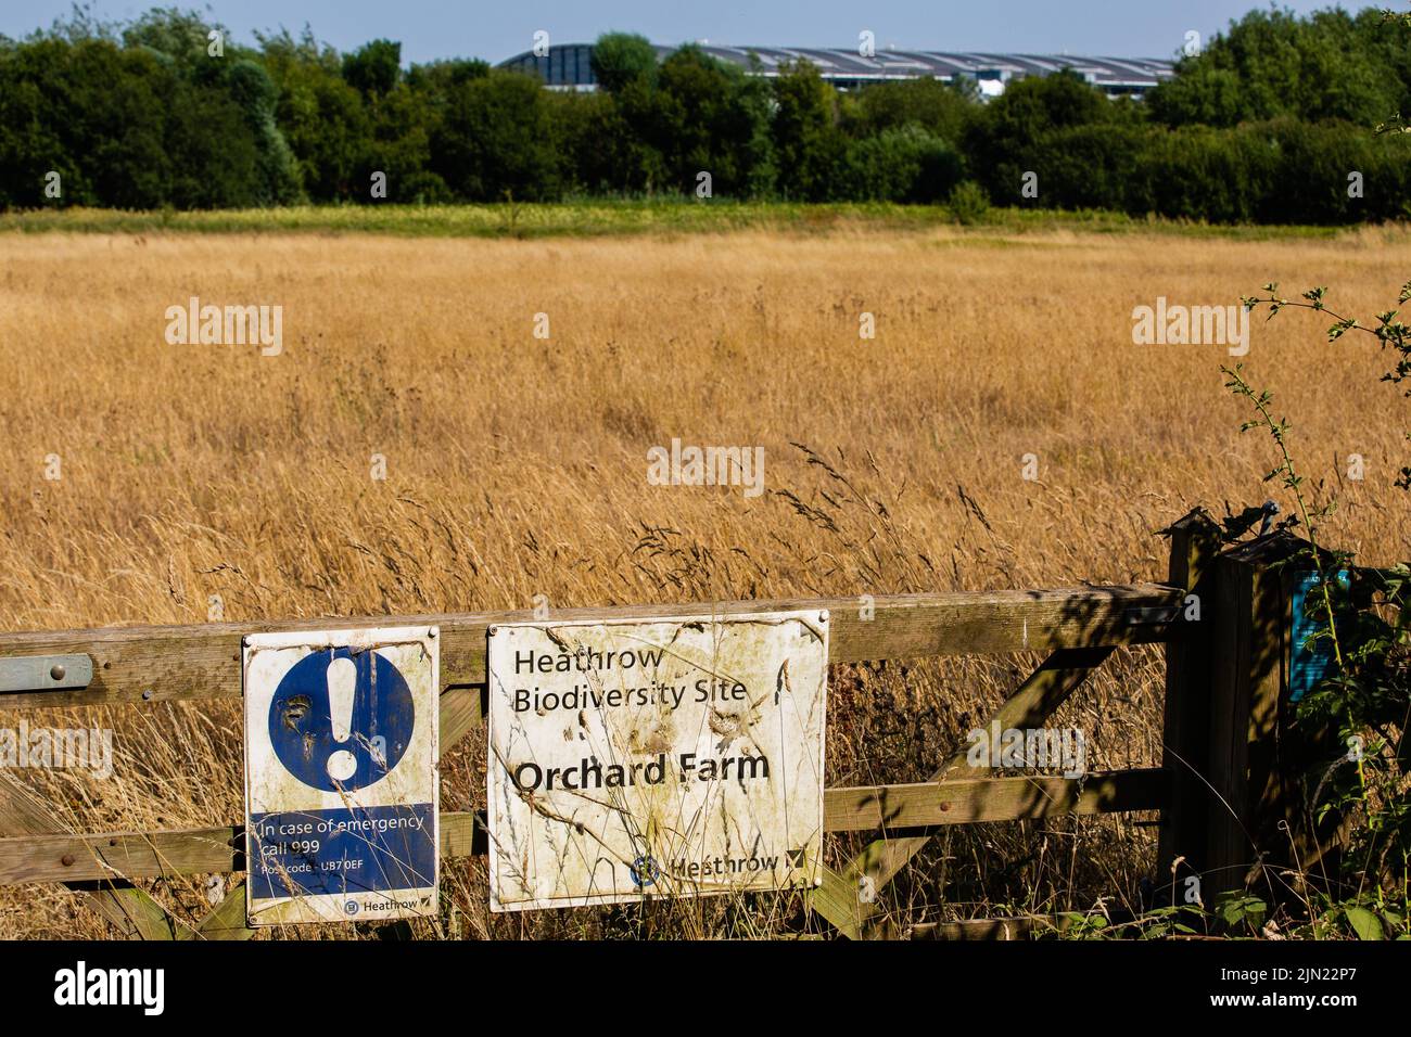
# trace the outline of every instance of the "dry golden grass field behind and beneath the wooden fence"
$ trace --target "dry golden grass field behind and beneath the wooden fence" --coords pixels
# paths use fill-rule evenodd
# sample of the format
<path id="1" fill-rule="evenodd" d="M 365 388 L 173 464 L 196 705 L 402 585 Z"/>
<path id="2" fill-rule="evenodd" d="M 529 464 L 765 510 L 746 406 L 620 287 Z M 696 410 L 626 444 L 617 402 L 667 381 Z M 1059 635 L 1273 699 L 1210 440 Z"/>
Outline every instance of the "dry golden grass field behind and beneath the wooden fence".
<path id="1" fill-rule="evenodd" d="M 248 621 L 1161 580 L 1157 530 L 1192 505 L 1291 502 L 1261 483 L 1267 436 L 1239 432 L 1225 347 L 1133 344 L 1133 308 L 1274 279 L 1370 317 L 1411 236 L 11 233 L 0 260 L 0 629 L 20 631 L 200 624 L 212 595 Z M 189 296 L 282 306 L 284 353 L 169 346 Z M 1326 323 L 1253 315 L 1246 372 L 1339 501 L 1325 542 L 1390 563 L 1411 556 L 1391 488 L 1411 422 L 1371 339 L 1329 346 Z M 762 446 L 765 494 L 650 485 L 646 450 L 673 437 Z M 917 780 L 1031 663 L 835 670 L 828 784 Z M 1065 707 L 1089 766 L 1160 760 L 1161 679 L 1158 650 L 1123 650 Z M 76 828 L 240 818 L 238 705 L 45 717 L 116 729 L 110 780 L 17 775 Z M 483 751 L 452 755 L 443 808 L 484 806 Z M 899 916 L 1086 910 L 1156 876 L 1130 815 L 951 831 L 890 890 Z M 209 910 L 199 876 L 141 885 Z M 483 861 L 449 862 L 443 889 L 416 935 L 817 928 L 790 896 L 490 916 Z M 103 934 L 65 889 L 0 889 L 0 937 Z"/>

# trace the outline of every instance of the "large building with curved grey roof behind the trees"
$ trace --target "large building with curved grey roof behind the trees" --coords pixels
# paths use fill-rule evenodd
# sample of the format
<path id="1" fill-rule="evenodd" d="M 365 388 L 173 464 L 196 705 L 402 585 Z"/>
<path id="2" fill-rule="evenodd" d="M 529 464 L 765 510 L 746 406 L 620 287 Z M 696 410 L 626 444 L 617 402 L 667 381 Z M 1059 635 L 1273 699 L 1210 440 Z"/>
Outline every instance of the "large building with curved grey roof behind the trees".
<path id="1" fill-rule="evenodd" d="M 658 59 L 674 47 L 656 45 Z M 1149 58 L 1079 58 L 1067 54 L 961 54 L 948 51 L 879 49 L 864 56 L 858 49 L 817 47 L 714 47 L 701 49 L 713 58 L 739 65 L 749 75 L 777 76 L 783 65 L 813 62 L 824 79 L 840 89 L 895 79 L 974 79 L 985 96 L 998 96 L 1012 79 L 1047 76 L 1071 68 L 1109 95 L 1141 95 L 1174 75 L 1170 61 Z M 591 66 L 593 44 L 556 44 L 542 56 L 525 51 L 501 68 L 538 73 L 556 89 L 595 89 Z"/>

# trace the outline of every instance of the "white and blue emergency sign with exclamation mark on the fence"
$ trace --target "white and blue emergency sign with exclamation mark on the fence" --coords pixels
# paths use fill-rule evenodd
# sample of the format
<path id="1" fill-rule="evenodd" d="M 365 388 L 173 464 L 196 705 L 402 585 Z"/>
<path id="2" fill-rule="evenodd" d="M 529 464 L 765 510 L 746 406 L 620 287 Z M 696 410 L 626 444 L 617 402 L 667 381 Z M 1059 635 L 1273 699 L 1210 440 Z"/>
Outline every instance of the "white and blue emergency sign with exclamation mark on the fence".
<path id="1" fill-rule="evenodd" d="M 436 628 L 244 641 L 250 924 L 435 916 Z"/>

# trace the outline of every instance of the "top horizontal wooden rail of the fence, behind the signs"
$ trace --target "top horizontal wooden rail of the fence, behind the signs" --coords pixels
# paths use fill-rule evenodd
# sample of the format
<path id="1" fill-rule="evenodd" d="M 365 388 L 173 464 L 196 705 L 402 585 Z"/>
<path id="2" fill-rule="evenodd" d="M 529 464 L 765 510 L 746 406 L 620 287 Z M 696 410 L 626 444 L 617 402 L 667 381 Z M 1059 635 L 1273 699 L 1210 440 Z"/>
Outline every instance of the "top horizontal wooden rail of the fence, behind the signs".
<path id="1" fill-rule="evenodd" d="M 982 594 L 878 595 L 873 598 L 872 619 L 861 618 L 855 597 L 563 608 L 553 611 L 553 619 L 710 619 L 775 610 L 825 608 L 834 615 L 830 662 L 862 662 L 1157 642 L 1165 639 L 1178 602 L 1177 590 L 1144 583 Z M 495 624 L 532 619 L 531 612 L 516 611 L 0 633 L 0 659 L 63 653 L 86 653 L 93 659 L 93 683 L 89 687 L 0 694 L 0 708 L 240 698 L 241 638 L 360 625 L 439 626 L 442 683 L 449 687 L 484 684 L 485 631 Z"/>

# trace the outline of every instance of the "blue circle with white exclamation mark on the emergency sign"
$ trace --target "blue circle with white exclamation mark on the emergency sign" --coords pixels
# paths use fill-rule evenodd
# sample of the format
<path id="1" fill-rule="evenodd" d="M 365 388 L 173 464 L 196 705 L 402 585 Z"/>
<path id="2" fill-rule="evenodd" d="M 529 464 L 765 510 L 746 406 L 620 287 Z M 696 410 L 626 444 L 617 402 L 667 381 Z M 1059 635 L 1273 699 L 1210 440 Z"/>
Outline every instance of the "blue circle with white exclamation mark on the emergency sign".
<path id="1" fill-rule="evenodd" d="M 333 663 L 351 662 L 351 708 L 330 694 Z M 340 667 L 346 670 L 347 663 Z M 341 717 L 334 718 L 334 708 Z M 412 741 L 416 705 L 396 667 L 373 650 L 334 648 L 296 662 L 270 703 L 270 744 L 285 769 L 320 792 L 354 792 L 380 782 Z"/>

